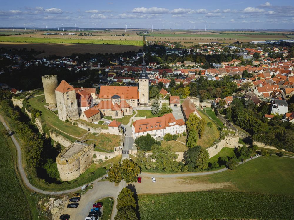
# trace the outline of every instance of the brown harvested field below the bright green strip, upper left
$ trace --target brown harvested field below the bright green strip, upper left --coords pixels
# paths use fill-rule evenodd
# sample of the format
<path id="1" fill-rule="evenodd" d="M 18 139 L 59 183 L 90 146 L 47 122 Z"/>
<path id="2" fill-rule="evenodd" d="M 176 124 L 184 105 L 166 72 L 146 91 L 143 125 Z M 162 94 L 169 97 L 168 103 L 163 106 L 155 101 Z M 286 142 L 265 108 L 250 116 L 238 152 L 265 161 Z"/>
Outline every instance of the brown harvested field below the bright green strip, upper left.
<path id="1" fill-rule="evenodd" d="M 142 46 L 133 45 L 103 45 L 103 44 L 69 44 L 69 43 L 11 43 L 0 42 L 0 47 L 28 50 L 34 49 L 36 51 L 45 51 L 37 55 L 37 57 L 49 56 L 56 54 L 59 56 L 70 56 L 73 53 L 123 53 L 127 51 L 138 51 L 143 49 Z"/>

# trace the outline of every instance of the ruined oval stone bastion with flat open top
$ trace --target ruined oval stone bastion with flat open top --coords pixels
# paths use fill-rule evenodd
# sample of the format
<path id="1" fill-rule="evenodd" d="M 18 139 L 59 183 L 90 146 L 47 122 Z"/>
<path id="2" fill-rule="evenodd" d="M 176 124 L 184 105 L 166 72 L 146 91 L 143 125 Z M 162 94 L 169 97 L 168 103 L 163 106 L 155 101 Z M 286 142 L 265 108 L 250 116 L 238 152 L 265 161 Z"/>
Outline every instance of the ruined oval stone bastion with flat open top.
<path id="1" fill-rule="evenodd" d="M 93 162 L 94 144 L 74 142 L 62 150 L 57 158 L 60 179 L 70 181 L 79 177 Z"/>

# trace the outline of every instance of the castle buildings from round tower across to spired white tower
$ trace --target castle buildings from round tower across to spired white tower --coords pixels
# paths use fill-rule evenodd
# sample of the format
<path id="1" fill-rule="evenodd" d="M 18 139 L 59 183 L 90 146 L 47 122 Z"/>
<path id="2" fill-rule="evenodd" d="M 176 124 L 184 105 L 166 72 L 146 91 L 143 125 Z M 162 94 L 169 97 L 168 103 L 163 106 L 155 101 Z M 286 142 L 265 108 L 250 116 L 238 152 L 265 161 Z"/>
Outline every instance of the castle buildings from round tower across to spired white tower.
<path id="1" fill-rule="evenodd" d="M 103 116 L 122 118 L 133 114 L 133 107 L 149 105 L 149 78 L 143 60 L 142 73 L 137 86 L 101 86 L 74 88 L 62 80 L 57 86 L 56 75 L 42 76 L 46 103 L 56 104 L 60 120 L 81 118 L 98 122 Z"/>

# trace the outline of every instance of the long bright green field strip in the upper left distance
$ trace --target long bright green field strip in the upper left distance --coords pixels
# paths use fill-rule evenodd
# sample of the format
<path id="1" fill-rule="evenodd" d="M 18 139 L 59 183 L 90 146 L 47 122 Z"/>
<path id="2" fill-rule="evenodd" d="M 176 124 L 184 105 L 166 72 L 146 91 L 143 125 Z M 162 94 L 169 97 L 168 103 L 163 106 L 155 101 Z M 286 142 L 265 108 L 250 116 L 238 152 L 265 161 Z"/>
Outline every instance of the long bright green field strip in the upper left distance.
<path id="1" fill-rule="evenodd" d="M 20 42 L 20 43 L 81 43 L 81 44 L 115 44 L 115 45 L 134 45 L 143 46 L 143 41 L 127 40 L 82 40 L 82 39 L 59 39 L 41 37 L 6 37 L 0 36 L 0 42 Z"/>

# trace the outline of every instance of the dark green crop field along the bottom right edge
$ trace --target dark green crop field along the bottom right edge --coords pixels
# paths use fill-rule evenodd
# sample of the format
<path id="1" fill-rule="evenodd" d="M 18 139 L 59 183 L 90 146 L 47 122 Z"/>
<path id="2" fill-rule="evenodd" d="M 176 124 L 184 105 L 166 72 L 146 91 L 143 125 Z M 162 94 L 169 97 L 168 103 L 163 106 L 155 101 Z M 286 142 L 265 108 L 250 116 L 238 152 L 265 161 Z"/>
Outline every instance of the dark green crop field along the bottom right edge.
<path id="1" fill-rule="evenodd" d="M 294 197 L 245 192 L 139 195 L 141 220 L 293 219 Z"/>

